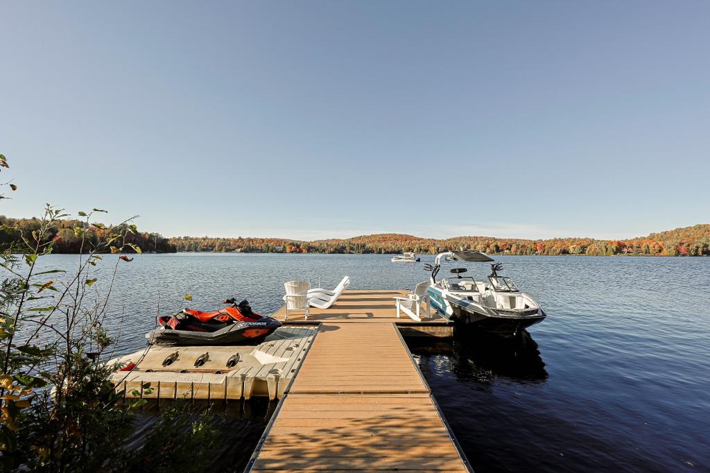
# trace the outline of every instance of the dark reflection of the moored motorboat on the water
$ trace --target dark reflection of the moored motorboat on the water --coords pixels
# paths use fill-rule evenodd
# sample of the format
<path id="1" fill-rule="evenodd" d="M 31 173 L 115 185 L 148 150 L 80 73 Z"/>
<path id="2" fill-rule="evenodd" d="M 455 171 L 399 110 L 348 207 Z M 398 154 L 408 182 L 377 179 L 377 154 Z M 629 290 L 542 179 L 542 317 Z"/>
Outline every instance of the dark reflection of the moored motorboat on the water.
<path id="1" fill-rule="evenodd" d="M 471 334 L 466 339 L 453 341 L 422 342 L 408 340 L 410 351 L 420 357 L 422 371 L 430 369 L 430 362 L 440 368 L 449 369 L 459 379 L 492 383 L 498 377 L 533 383 L 547 380 L 545 362 L 540 356 L 537 342 L 527 330 L 518 337 L 503 338 L 484 332 Z M 441 366 L 442 360 L 431 357 L 444 357 L 449 363 Z M 445 363 L 445 362 L 444 362 Z M 427 376 L 427 379 L 429 376 Z"/>

